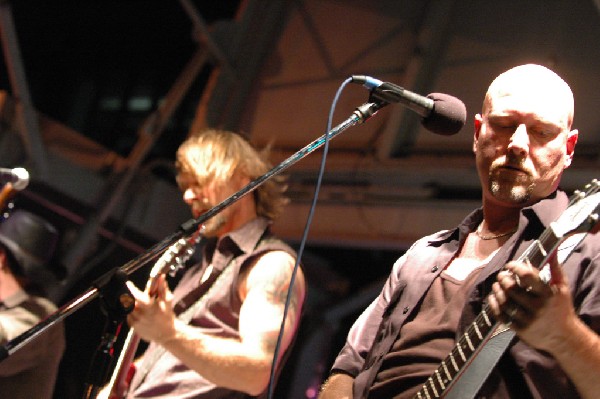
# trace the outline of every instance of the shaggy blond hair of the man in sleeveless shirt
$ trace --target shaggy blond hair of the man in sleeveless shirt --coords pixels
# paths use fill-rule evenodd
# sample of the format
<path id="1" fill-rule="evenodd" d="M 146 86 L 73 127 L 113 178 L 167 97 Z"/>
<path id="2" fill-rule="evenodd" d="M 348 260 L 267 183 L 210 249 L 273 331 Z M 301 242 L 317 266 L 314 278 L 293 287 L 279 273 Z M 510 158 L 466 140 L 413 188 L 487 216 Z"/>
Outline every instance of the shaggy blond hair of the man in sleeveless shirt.
<path id="1" fill-rule="evenodd" d="M 256 150 L 241 135 L 218 129 L 193 132 L 177 150 L 178 173 L 193 175 L 199 185 L 226 184 L 235 173 L 254 180 L 269 170 L 268 148 Z M 285 177 L 276 175 L 258 186 L 254 194 L 256 213 L 274 220 L 289 202 L 284 196 Z"/>

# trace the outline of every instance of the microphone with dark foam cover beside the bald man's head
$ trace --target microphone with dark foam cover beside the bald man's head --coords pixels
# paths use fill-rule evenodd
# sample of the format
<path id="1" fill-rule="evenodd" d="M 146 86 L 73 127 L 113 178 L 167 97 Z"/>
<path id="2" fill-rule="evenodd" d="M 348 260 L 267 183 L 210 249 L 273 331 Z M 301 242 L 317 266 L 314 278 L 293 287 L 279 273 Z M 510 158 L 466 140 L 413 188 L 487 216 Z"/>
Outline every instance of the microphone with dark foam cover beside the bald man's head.
<path id="1" fill-rule="evenodd" d="M 460 131 L 467 119 L 465 104 L 456 97 L 431 93 L 426 97 L 398 85 L 365 75 L 352 75 L 352 83 L 362 84 L 371 97 L 386 103 L 400 103 L 421 115 L 421 124 L 429 131 L 451 136 Z"/>

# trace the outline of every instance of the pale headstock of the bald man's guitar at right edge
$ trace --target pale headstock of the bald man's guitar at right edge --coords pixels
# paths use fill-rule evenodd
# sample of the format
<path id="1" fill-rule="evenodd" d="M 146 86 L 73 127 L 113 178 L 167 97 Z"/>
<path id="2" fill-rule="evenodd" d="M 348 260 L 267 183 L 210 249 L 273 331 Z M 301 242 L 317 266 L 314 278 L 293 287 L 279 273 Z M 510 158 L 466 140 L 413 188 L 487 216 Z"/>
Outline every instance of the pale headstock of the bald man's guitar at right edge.
<path id="1" fill-rule="evenodd" d="M 550 227 L 557 237 L 582 232 L 595 232 L 600 229 L 600 182 L 592 180 L 585 191 L 573 194 L 569 207 Z"/>

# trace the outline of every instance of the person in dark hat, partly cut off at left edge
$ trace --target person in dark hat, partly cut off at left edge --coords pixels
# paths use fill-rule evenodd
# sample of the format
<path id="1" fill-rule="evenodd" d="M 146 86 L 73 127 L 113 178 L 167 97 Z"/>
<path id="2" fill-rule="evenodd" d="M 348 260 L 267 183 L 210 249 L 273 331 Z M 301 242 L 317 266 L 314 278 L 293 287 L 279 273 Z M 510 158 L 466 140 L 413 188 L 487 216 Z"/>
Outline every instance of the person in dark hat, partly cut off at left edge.
<path id="1" fill-rule="evenodd" d="M 56 229 L 30 212 L 16 210 L 0 222 L 0 344 L 56 311 L 40 287 L 57 241 Z M 0 398 L 52 398 L 64 350 L 59 323 L 1 361 Z"/>

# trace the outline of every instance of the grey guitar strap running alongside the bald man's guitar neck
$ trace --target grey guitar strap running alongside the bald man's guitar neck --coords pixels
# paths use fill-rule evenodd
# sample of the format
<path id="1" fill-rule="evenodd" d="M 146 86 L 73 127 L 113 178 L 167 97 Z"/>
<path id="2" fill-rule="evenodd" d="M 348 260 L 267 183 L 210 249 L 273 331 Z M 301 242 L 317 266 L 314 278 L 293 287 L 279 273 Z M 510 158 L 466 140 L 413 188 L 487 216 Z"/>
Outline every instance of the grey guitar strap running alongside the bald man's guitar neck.
<path id="1" fill-rule="evenodd" d="M 558 262 L 563 264 L 581 243 L 586 234 L 576 234 L 567 238 L 558 248 Z M 548 270 L 547 268 L 545 270 Z M 543 273 L 544 271 L 542 271 Z M 473 356 L 471 364 L 463 371 L 454 385 L 444 396 L 447 399 L 471 399 L 481 389 L 500 358 L 514 341 L 516 334 L 505 324 L 498 324 L 492 338 Z"/>

